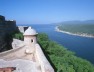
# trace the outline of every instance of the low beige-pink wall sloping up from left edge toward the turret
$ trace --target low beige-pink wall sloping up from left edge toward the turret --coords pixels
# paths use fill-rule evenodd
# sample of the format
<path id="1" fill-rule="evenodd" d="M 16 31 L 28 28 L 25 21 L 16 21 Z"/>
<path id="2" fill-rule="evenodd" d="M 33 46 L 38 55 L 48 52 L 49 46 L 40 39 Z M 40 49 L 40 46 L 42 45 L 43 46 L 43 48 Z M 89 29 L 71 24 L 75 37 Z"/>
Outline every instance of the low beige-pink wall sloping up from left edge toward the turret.
<path id="1" fill-rule="evenodd" d="M 11 49 L 5 52 L 0 53 L 0 59 L 4 60 L 13 60 L 13 59 L 21 59 L 26 56 L 25 54 L 26 47 L 23 45 L 16 49 Z"/>

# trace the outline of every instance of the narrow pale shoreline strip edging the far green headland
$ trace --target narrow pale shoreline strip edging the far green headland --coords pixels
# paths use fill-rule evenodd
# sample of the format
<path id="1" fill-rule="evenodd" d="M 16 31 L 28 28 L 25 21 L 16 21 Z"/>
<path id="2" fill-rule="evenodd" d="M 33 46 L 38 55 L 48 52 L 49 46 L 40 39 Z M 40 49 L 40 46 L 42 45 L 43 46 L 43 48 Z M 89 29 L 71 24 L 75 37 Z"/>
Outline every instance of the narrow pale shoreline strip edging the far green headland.
<path id="1" fill-rule="evenodd" d="M 89 38 L 94 38 L 93 35 L 89 35 L 86 33 L 71 33 L 71 32 L 67 32 L 67 31 L 62 31 L 58 28 L 58 26 L 55 27 L 55 31 L 57 32 L 62 32 L 62 33 L 66 33 L 66 34 L 70 34 L 70 35 L 76 35 L 76 36 L 82 36 L 82 37 L 89 37 Z"/>

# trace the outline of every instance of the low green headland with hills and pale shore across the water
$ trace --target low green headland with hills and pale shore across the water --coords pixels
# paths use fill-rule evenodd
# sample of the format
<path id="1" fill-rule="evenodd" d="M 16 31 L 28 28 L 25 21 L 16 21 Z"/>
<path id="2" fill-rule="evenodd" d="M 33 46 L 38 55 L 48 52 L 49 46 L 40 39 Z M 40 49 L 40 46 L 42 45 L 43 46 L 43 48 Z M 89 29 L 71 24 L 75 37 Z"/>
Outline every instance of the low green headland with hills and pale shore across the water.
<path id="1" fill-rule="evenodd" d="M 93 37 L 94 38 L 94 20 L 87 21 L 66 21 L 59 23 L 58 29 L 69 34 Z"/>

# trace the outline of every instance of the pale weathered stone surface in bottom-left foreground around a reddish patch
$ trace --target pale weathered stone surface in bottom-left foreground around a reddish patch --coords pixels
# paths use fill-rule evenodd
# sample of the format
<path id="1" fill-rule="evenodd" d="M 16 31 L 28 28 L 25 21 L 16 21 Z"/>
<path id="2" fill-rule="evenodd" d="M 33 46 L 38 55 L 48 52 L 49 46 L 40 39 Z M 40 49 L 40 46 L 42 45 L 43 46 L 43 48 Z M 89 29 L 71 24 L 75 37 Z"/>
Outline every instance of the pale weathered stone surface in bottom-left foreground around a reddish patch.
<path id="1" fill-rule="evenodd" d="M 36 64 L 29 60 L 16 59 L 12 61 L 0 60 L 0 68 L 16 67 L 13 72 L 38 72 Z"/>

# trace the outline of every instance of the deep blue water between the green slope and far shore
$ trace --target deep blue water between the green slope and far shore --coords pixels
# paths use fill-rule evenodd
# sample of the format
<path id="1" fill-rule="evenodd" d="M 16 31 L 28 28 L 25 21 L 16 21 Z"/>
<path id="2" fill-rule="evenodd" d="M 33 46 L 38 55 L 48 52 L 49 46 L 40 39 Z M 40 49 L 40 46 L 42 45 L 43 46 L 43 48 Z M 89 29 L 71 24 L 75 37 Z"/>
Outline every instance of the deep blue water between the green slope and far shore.
<path id="1" fill-rule="evenodd" d="M 77 56 L 89 60 L 94 64 L 94 38 L 80 37 L 55 31 L 56 25 L 32 24 L 30 25 L 39 33 L 46 33 L 49 38 L 63 45 Z"/>

